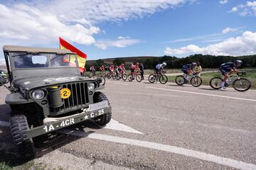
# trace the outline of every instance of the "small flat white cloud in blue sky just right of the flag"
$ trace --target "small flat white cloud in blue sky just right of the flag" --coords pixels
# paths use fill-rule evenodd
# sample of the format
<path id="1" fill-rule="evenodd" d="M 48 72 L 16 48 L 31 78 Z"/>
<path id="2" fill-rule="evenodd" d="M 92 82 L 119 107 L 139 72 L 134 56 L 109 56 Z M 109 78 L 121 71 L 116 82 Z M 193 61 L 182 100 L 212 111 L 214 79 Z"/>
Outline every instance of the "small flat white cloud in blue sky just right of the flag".
<path id="1" fill-rule="evenodd" d="M 127 47 L 139 43 L 140 40 L 119 36 L 117 40 L 97 40 L 95 46 L 106 50 L 108 47 Z"/>

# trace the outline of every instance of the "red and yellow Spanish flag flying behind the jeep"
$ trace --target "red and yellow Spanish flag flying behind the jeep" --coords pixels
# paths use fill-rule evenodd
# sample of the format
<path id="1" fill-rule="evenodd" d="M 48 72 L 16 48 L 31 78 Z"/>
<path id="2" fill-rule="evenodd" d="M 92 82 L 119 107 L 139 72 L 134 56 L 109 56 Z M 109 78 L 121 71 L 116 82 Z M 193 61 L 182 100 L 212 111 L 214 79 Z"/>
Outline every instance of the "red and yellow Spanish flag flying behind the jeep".
<path id="1" fill-rule="evenodd" d="M 80 50 L 78 50 L 73 45 L 70 45 L 70 43 L 63 40 L 63 38 L 60 38 L 60 49 L 68 49 L 72 52 L 75 52 L 78 55 L 78 65 L 79 65 L 79 68 L 80 68 L 80 72 L 85 71 L 85 62 L 87 60 L 87 55 L 84 52 L 81 52 Z"/>

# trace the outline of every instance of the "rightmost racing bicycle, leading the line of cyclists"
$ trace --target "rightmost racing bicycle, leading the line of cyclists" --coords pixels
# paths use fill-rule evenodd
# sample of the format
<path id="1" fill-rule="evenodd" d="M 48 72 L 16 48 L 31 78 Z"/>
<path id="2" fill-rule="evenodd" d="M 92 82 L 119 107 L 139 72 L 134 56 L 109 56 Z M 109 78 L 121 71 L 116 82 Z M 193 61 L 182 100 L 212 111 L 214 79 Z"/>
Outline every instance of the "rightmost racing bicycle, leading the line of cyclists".
<path id="1" fill-rule="evenodd" d="M 241 76 L 244 76 L 246 72 L 237 73 L 237 74 L 230 74 L 228 75 L 228 79 L 225 82 L 225 87 L 228 87 L 230 84 L 232 84 L 233 88 L 237 91 L 247 91 L 250 89 L 250 86 L 252 85 L 250 80 L 245 78 L 240 78 Z M 213 77 L 210 79 L 210 86 L 213 89 L 221 89 L 221 83 L 223 79 L 220 77 Z"/>

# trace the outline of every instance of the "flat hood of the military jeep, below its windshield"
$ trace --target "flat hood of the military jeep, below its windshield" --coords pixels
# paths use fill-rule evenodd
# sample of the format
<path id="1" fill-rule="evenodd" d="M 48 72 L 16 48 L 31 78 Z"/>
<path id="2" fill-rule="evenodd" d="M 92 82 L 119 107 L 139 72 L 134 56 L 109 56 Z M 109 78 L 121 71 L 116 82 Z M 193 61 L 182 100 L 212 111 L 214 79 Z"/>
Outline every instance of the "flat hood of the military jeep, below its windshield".
<path id="1" fill-rule="evenodd" d="M 34 88 L 42 86 L 50 86 L 55 84 L 70 83 L 74 81 L 85 81 L 90 80 L 89 78 L 80 76 L 63 76 L 63 77 L 38 77 L 38 78 L 28 78 L 28 79 L 16 79 L 12 81 L 14 87 L 19 89 L 31 90 Z"/>

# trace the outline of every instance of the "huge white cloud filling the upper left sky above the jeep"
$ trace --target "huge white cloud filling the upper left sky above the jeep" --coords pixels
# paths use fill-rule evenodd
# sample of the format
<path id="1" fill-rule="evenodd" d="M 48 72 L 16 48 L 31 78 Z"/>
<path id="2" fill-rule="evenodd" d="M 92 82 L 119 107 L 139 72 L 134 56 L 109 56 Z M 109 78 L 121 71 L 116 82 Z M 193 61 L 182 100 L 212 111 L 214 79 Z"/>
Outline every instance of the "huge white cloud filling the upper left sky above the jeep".
<path id="1" fill-rule="evenodd" d="M 58 44 L 61 36 L 70 42 L 91 45 L 95 43 L 95 34 L 105 33 L 96 26 L 98 23 L 142 18 L 193 2 L 195 0 L 6 1 L 6 4 L 0 3 L 0 38 L 4 44 L 51 46 Z"/>

